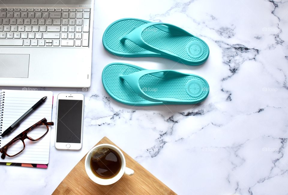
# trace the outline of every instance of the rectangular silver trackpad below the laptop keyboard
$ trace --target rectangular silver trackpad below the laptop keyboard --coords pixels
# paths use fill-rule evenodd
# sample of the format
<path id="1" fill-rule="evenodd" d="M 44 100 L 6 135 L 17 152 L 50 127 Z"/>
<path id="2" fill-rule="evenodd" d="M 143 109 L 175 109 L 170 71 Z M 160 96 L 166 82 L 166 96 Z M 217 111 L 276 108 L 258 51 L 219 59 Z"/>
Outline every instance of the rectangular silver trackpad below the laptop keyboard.
<path id="1" fill-rule="evenodd" d="M 28 78 L 29 54 L 0 54 L 0 77 Z"/>

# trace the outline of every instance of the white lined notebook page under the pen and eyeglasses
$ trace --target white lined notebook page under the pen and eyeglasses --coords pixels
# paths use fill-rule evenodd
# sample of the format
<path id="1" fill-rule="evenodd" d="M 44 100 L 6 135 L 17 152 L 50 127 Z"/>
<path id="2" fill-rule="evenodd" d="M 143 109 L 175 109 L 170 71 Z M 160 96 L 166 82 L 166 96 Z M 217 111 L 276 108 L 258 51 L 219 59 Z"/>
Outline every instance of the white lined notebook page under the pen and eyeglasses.
<path id="1" fill-rule="evenodd" d="M 43 118 L 46 118 L 47 122 L 51 122 L 53 101 L 52 91 L 2 90 L 2 92 L 5 92 L 4 98 L 2 98 L 4 99 L 2 132 L 4 132 L 17 119 L 19 119 L 20 116 L 22 116 L 41 98 L 47 96 L 47 99 L 44 104 L 38 107 L 26 119 L 24 119 L 19 125 L 19 127 L 12 131 L 12 133 L 1 138 L 0 147 L 3 147 L 22 131 L 26 130 L 27 128 L 34 125 L 36 122 L 40 121 Z M 51 127 L 49 126 L 48 133 L 42 139 L 38 141 L 30 141 L 28 139 L 24 140 L 25 149 L 23 152 L 21 152 L 19 155 L 16 155 L 15 157 L 6 156 L 5 159 L 0 158 L 0 162 L 48 164 L 50 134 Z"/>

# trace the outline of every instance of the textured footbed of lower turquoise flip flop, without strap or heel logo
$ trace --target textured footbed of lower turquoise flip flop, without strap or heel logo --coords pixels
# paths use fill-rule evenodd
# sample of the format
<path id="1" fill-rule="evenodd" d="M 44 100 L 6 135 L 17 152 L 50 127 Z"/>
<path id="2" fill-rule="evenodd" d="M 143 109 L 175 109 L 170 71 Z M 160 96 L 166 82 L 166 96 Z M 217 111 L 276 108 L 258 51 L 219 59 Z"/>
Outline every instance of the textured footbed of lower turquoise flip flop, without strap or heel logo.
<path id="1" fill-rule="evenodd" d="M 108 66 L 104 72 L 103 79 L 103 82 L 106 84 L 107 92 L 128 102 L 141 103 L 146 101 L 138 96 L 125 80 L 119 78 L 119 75 L 127 75 L 137 71 L 139 71 L 137 68 L 124 64 L 113 64 Z M 208 88 L 206 82 L 197 76 L 161 79 L 147 74 L 140 78 L 139 85 L 143 92 L 154 98 L 177 98 L 196 102 L 197 100 L 203 99 L 203 97 L 207 96 L 208 91 L 203 91 L 198 97 L 190 96 L 186 92 L 185 86 L 187 82 L 195 79 L 202 83 L 203 88 Z"/>

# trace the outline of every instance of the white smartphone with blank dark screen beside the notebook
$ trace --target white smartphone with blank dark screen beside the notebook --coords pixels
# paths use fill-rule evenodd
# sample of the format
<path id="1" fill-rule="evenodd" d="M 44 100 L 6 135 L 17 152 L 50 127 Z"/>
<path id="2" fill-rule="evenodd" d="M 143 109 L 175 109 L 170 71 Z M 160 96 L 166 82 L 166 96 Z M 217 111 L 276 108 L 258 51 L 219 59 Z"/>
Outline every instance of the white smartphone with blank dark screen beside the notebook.
<path id="1" fill-rule="evenodd" d="M 57 100 L 57 123 L 55 147 L 79 150 L 82 147 L 84 95 L 59 93 Z"/>

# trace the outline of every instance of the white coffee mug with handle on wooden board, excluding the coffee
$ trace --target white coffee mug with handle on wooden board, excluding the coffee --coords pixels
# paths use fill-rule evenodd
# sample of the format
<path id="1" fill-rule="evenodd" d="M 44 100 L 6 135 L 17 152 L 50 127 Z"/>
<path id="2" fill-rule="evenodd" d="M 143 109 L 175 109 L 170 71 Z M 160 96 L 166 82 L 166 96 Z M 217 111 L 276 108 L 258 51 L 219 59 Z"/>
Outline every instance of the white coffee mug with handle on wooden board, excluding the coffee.
<path id="1" fill-rule="evenodd" d="M 98 149 L 98 148 L 109 148 L 109 149 L 112 149 L 114 151 L 116 151 L 118 153 L 118 155 L 120 156 L 121 158 L 121 168 L 120 168 L 120 171 L 119 173 L 110 178 L 110 179 L 102 179 L 98 176 L 95 175 L 94 171 L 91 169 L 91 166 L 90 166 L 90 162 L 91 162 L 91 156 L 92 156 L 92 153 L 95 149 Z M 113 146 L 111 144 L 99 144 L 97 146 L 94 146 L 89 152 L 88 154 L 86 155 L 86 158 L 85 158 L 85 170 L 86 170 L 86 173 L 88 175 L 88 177 L 95 183 L 97 184 L 100 184 L 100 185 L 110 185 L 110 184 L 113 184 L 115 182 L 117 182 L 124 174 L 125 175 L 128 175 L 128 176 L 131 176 L 134 174 L 134 171 L 132 169 L 129 169 L 128 167 L 126 167 L 126 161 L 125 161 L 125 157 L 123 155 L 123 153 L 121 152 L 121 150 L 119 148 L 117 148 L 116 146 Z"/>

